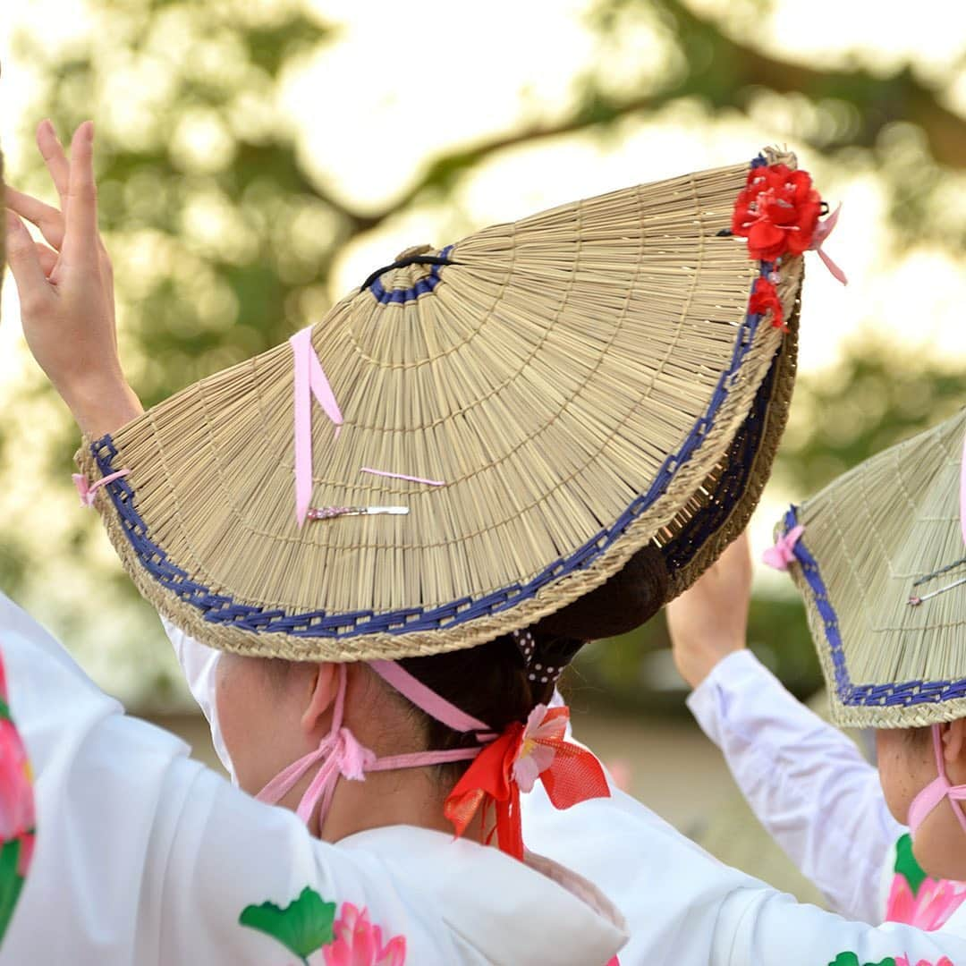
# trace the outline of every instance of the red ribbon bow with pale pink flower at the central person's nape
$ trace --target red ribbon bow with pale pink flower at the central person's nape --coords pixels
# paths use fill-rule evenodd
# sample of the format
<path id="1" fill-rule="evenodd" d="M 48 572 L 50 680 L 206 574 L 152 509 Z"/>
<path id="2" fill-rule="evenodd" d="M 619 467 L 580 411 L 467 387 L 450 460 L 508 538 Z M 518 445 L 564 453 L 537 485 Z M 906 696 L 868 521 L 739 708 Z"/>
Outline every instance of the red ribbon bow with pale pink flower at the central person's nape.
<path id="1" fill-rule="evenodd" d="M 457 838 L 466 831 L 476 811 L 491 806 L 497 821 L 487 842 L 497 834 L 501 851 L 524 858 L 520 826 L 520 782 L 535 774 L 543 781 L 555 809 L 569 809 L 590 798 L 609 798 L 611 789 L 601 763 L 564 735 L 570 709 L 538 704 L 525 725 L 514 722 L 480 752 L 456 783 L 443 805 Z M 536 764 L 535 764 L 536 763 Z M 529 788 L 526 788 L 528 791 Z"/>

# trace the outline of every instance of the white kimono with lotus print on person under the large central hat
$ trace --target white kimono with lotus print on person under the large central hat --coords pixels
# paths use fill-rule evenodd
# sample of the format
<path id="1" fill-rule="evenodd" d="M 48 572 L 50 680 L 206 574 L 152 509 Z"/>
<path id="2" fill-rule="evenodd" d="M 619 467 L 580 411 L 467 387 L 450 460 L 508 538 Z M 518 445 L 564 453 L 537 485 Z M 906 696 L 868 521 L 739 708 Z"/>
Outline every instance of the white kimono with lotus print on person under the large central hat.
<path id="1" fill-rule="evenodd" d="M 624 944 L 546 861 L 411 826 L 311 838 L 128 718 L 3 595 L 0 653 L 37 806 L 0 963 L 604 966 Z"/>

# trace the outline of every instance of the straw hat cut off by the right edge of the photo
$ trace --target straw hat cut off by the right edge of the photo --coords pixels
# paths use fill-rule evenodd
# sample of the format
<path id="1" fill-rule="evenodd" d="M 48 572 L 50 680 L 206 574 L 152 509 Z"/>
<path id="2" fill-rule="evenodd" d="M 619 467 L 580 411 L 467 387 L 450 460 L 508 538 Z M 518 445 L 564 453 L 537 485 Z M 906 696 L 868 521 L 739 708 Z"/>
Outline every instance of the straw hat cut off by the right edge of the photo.
<path id="1" fill-rule="evenodd" d="M 966 409 L 840 476 L 780 528 L 838 725 L 966 717 Z"/>

